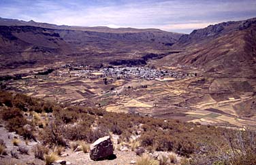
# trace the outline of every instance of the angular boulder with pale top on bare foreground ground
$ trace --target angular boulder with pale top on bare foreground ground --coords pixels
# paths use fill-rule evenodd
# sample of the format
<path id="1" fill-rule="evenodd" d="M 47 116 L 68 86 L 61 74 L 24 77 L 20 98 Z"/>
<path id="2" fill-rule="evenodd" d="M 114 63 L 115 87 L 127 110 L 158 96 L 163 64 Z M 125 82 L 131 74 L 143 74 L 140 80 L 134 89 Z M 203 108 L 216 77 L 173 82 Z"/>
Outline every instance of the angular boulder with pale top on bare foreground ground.
<path id="1" fill-rule="evenodd" d="M 113 144 L 110 141 L 110 136 L 104 136 L 90 147 L 91 160 L 104 160 L 113 155 Z"/>

